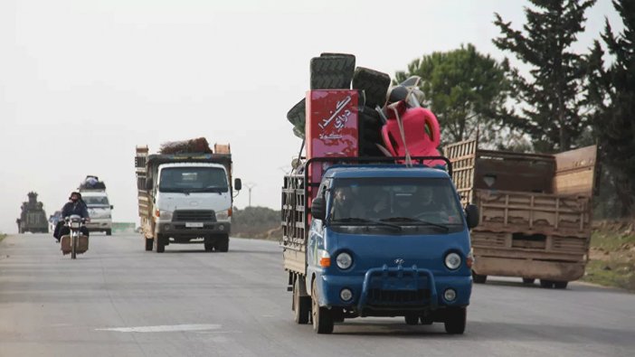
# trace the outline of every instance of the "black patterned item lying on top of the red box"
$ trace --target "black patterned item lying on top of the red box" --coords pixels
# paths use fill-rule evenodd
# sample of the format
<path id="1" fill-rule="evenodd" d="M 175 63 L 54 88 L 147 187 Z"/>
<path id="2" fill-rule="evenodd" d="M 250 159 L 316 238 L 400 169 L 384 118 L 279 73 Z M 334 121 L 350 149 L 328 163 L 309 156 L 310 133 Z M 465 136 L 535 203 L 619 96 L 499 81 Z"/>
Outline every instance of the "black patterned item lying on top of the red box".
<path id="1" fill-rule="evenodd" d="M 355 56 L 324 53 L 311 59 L 311 89 L 350 89 L 355 72 Z"/>

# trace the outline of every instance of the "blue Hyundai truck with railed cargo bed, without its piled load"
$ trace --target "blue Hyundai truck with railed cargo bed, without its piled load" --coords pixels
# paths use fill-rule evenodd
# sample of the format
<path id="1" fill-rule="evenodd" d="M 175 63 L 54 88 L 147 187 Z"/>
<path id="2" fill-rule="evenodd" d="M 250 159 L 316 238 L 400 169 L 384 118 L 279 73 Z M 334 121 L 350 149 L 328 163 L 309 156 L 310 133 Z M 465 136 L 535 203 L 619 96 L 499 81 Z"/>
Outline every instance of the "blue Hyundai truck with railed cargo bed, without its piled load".
<path id="1" fill-rule="evenodd" d="M 461 206 L 447 158 L 434 157 L 444 170 L 412 159 L 316 157 L 285 176 L 281 245 L 297 324 L 330 334 L 346 318 L 403 316 L 463 334 L 479 211 Z M 319 180 L 313 166 L 326 168 Z"/>

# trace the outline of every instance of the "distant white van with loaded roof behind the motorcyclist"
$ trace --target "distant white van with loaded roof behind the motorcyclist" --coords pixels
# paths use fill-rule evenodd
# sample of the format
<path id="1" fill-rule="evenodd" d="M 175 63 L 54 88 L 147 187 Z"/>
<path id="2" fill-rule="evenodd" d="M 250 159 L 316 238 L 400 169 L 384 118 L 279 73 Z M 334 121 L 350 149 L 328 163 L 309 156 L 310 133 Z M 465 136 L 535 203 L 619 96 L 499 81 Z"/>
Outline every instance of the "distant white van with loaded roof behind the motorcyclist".
<path id="1" fill-rule="evenodd" d="M 112 206 L 106 193 L 106 184 L 99 177 L 88 175 L 79 187 L 81 199 L 86 202 L 90 222 L 86 223 L 89 231 L 103 231 L 112 234 Z"/>

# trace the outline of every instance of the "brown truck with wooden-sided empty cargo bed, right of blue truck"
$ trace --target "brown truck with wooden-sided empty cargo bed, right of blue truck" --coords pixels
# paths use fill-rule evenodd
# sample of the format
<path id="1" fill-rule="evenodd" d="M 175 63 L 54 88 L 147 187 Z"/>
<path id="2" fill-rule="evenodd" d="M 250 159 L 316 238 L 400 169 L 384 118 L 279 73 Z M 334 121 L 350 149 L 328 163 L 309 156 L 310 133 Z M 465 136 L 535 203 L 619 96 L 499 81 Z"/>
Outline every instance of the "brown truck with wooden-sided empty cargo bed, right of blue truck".
<path id="1" fill-rule="evenodd" d="M 479 207 L 471 232 L 475 283 L 522 277 L 565 288 L 583 277 L 591 240 L 596 146 L 554 155 L 445 147 L 463 203 Z"/>

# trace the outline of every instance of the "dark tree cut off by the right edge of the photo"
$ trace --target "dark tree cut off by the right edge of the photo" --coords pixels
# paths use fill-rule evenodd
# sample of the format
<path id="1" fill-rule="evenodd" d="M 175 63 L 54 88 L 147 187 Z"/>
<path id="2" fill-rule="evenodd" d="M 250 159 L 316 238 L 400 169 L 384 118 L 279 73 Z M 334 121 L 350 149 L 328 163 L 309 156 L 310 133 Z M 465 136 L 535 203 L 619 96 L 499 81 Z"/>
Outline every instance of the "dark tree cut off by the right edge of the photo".
<path id="1" fill-rule="evenodd" d="M 588 104 L 596 110 L 592 124 L 602 162 L 613 176 L 621 216 L 635 214 L 635 0 L 613 1 L 624 31 L 613 34 L 606 20 L 602 41 L 613 62 L 604 69 L 602 46 L 595 41 L 589 56 Z"/>

